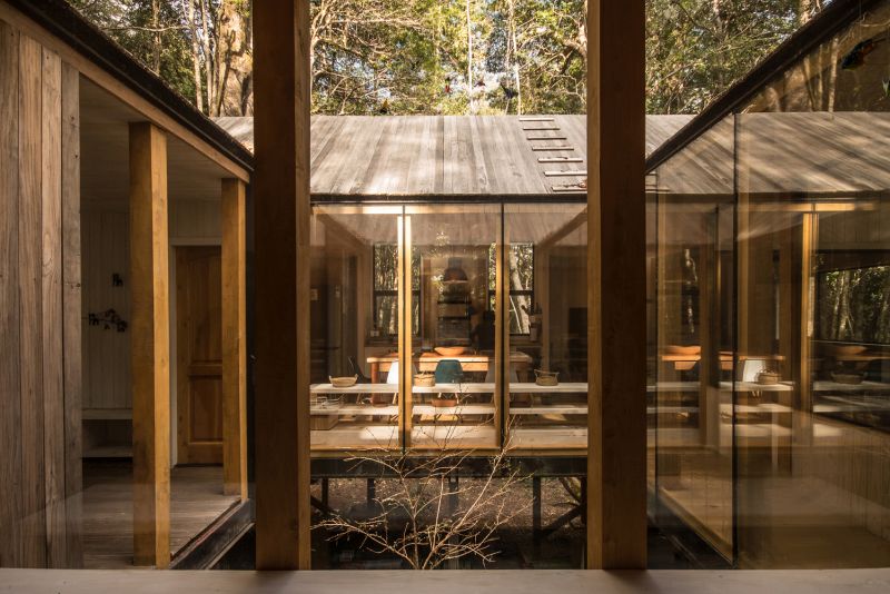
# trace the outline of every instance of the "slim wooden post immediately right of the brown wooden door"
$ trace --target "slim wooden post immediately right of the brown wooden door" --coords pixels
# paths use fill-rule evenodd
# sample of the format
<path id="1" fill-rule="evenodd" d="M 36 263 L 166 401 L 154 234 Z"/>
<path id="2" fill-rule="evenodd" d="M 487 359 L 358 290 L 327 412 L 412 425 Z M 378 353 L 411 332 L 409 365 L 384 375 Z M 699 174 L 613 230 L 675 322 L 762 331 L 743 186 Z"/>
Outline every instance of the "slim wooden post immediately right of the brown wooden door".
<path id="1" fill-rule="evenodd" d="M 247 499 L 245 185 L 222 180 L 222 483 Z"/>

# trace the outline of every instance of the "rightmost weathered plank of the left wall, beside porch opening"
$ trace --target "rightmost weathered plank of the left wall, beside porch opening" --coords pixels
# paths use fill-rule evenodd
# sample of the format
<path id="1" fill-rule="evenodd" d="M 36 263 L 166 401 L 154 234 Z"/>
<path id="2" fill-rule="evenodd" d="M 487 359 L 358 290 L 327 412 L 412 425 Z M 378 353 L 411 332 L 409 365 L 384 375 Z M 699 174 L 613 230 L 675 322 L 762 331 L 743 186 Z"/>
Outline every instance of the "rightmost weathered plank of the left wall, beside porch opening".
<path id="1" fill-rule="evenodd" d="M 81 492 L 81 341 L 80 341 L 80 73 L 61 72 L 61 225 L 62 358 L 65 387 L 66 565 L 80 567 L 83 552 Z"/>

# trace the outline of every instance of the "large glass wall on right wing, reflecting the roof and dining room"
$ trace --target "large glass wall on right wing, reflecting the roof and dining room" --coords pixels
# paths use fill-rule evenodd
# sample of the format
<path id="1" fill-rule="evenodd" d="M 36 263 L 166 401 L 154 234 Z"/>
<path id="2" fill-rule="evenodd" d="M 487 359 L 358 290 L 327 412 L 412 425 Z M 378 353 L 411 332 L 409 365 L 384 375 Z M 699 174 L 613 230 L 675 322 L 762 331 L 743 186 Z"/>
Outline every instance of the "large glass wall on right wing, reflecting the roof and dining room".
<path id="1" fill-rule="evenodd" d="M 651 174 L 652 511 L 740 567 L 890 565 L 888 23 Z"/>

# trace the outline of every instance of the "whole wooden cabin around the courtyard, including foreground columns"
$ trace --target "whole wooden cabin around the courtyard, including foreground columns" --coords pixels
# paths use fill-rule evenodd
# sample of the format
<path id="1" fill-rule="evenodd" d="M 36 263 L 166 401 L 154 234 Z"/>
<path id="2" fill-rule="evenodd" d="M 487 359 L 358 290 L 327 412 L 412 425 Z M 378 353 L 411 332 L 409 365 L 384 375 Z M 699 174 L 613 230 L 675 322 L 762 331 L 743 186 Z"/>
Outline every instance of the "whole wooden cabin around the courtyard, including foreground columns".
<path id="1" fill-rule="evenodd" d="M 586 117 L 310 117 L 308 3 L 257 3 L 257 118 L 211 121 L 0 0 L 0 566 L 207 566 L 254 526 L 310 568 L 314 477 L 443 448 L 538 505 L 583 477 L 589 567 L 649 526 L 890 565 L 887 61 L 825 58 L 890 8 L 835 0 L 693 118 L 643 116 L 630 4 L 592 9 Z"/>

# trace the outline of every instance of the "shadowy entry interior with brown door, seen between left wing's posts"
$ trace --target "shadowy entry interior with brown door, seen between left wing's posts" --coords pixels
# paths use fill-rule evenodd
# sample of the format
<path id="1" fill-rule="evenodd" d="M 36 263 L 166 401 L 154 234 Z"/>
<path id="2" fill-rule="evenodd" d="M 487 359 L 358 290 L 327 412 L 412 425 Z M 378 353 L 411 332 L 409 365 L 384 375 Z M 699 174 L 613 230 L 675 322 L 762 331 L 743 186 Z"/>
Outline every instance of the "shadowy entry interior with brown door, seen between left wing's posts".
<path id="1" fill-rule="evenodd" d="M 83 566 L 134 565 L 134 339 L 129 125 L 142 117 L 80 78 Z M 167 135 L 170 551 L 240 495 L 224 489 L 222 179 Z M 137 330 L 138 331 L 138 330 Z M 138 443 L 138 440 L 136 442 Z"/>

